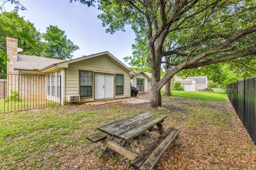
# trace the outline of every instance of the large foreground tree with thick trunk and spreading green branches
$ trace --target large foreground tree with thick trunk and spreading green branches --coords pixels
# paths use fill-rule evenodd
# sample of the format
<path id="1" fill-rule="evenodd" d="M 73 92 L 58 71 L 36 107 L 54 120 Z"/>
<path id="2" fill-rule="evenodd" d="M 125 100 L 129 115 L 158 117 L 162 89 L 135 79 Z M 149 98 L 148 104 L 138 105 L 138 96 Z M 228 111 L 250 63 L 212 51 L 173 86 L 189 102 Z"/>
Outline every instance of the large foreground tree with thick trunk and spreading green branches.
<path id="1" fill-rule="evenodd" d="M 255 58 L 254 0 L 98 0 L 98 3 L 103 10 L 98 17 L 103 26 L 108 25 L 107 32 L 124 30 L 129 24 L 146 35 L 150 51 L 147 61 L 152 71 L 152 107 L 161 106 L 161 87 L 180 70 L 246 56 Z M 169 47 L 163 48 L 166 46 Z M 168 61 L 163 59 L 166 56 Z M 164 63 L 170 65 L 170 71 L 160 79 Z"/>

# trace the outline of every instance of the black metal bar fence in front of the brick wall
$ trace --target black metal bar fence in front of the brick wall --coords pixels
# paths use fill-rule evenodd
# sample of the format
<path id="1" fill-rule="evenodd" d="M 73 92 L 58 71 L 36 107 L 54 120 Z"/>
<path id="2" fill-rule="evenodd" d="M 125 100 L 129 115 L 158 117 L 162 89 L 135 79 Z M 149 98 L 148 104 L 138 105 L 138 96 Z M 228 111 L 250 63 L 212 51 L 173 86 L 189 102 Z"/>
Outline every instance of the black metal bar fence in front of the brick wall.
<path id="1" fill-rule="evenodd" d="M 60 104 L 61 76 L 4 74 L 0 81 L 0 113 Z"/>

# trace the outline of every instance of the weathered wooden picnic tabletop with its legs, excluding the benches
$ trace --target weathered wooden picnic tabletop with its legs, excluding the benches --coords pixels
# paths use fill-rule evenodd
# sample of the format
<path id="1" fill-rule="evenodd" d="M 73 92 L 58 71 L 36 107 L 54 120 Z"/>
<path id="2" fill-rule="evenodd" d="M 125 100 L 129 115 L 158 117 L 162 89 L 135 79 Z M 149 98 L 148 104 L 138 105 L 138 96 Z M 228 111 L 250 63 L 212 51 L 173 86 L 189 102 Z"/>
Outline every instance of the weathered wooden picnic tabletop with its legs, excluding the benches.
<path id="1" fill-rule="evenodd" d="M 162 134 L 164 132 L 162 122 L 166 117 L 167 115 L 144 112 L 102 125 L 97 129 L 106 133 L 108 136 L 107 138 L 100 140 L 103 144 L 101 148 L 106 150 L 107 147 L 109 147 L 126 156 L 128 159 L 134 160 L 134 158 L 140 154 L 136 137 L 146 130 Z M 154 125 L 157 125 L 158 128 L 154 128 Z M 124 142 L 122 145 L 118 145 L 112 141 L 114 137 L 123 140 Z M 126 142 L 130 143 L 132 151 L 124 147 Z"/>

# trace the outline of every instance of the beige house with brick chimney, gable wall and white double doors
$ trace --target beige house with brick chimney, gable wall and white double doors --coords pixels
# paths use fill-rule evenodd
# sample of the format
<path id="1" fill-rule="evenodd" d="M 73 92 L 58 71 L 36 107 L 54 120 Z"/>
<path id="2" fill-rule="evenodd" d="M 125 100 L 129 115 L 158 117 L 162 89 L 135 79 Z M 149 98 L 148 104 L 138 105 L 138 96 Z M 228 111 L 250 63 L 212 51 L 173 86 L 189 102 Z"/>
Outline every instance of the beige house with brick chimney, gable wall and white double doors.
<path id="1" fill-rule="evenodd" d="M 14 89 L 26 100 L 36 94 L 60 104 L 130 97 L 135 73 L 108 51 L 64 61 L 18 54 L 17 39 L 6 44 L 7 74 L 19 75 L 8 76 L 8 94 Z"/>

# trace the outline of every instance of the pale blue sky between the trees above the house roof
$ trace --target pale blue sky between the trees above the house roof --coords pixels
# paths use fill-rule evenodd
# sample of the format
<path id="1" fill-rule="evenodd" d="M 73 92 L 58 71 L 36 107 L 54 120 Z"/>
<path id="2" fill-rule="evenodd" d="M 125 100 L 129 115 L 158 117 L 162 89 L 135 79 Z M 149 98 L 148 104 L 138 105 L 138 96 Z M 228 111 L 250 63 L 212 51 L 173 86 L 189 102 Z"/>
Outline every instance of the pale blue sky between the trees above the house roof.
<path id="1" fill-rule="evenodd" d="M 97 18 L 102 13 L 97 6 L 89 8 L 74 0 L 72 3 L 70 0 L 20 0 L 20 3 L 27 10 L 20 10 L 18 14 L 34 23 L 41 33 L 45 33 L 49 25 L 57 25 L 65 31 L 68 39 L 80 47 L 73 53 L 73 59 L 108 51 L 128 66 L 123 58 L 132 56 L 134 32 L 128 25 L 125 32 L 106 33 L 106 27 L 102 27 L 102 21 Z M 3 7 L 10 12 L 14 6 L 6 2 Z"/>

